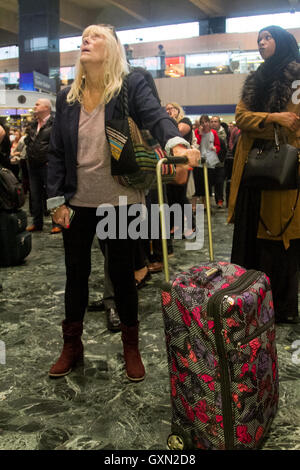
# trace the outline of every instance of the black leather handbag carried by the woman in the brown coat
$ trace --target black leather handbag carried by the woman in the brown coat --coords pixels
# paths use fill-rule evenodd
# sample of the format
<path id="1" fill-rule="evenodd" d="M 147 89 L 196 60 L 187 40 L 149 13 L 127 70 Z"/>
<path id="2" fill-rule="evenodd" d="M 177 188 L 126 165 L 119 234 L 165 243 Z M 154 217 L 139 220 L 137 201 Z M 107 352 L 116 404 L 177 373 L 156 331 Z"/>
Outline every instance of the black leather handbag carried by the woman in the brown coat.
<path id="1" fill-rule="evenodd" d="M 263 190 L 298 189 L 300 150 L 293 145 L 279 143 L 275 126 L 274 133 L 274 142 L 264 141 L 262 146 L 251 149 L 242 183 Z"/>

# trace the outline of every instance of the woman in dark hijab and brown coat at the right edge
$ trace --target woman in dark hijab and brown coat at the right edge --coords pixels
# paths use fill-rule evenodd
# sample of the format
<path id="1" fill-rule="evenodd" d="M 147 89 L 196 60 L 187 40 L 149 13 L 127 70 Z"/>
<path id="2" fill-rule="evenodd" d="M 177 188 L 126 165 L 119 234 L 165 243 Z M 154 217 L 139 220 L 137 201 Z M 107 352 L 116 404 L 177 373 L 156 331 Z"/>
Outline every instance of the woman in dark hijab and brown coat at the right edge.
<path id="1" fill-rule="evenodd" d="M 231 260 L 265 272 L 271 279 L 277 322 L 298 321 L 300 259 L 300 197 L 297 190 L 258 191 L 243 187 L 243 170 L 258 141 L 274 140 L 274 124 L 281 140 L 300 147 L 300 104 L 294 100 L 300 79 L 299 48 L 292 34 L 279 26 L 258 35 L 264 59 L 245 80 L 236 108 L 241 129 L 229 199 L 229 222 L 234 222 Z M 298 93 L 299 94 L 299 93 Z M 290 223 L 287 225 L 287 221 Z"/>

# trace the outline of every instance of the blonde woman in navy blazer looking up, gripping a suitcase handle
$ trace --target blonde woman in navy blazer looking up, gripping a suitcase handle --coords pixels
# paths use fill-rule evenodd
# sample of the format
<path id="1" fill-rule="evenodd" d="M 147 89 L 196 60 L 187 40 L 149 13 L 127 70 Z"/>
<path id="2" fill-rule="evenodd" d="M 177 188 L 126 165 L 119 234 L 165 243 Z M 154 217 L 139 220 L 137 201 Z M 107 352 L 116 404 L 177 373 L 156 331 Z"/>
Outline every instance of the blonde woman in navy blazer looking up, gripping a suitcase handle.
<path id="1" fill-rule="evenodd" d="M 110 204 L 119 218 L 119 197 L 127 197 L 127 206 L 144 201 L 144 194 L 119 185 L 111 176 L 111 152 L 106 139 L 106 122 L 122 118 L 118 94 L 128 74 L 124 49 L 108 25 L 91 25 L 82 35 L 77 74 L 71 88 L 57 97 L 56 117 L 50 142 L 48 165 L 48 207 L 56 223 L 63 227 L 66 263 L 65 315 L 62 323 L 64 347 L 49 375 L 68 374 L 83 359 L 81 335 L 88 303 L 88 278 L 91 269 L 91 245 L 100 204 Z M 174 155 L 187 153 L 196 165 L 200 153 L 187 150 L 189 144 L 177 126 L 153 96 L 141 73 L 128 77 L 129 113 L 136 123 Z M 178 171 L 185 172 L 181 167 Z M 72 209 L 73 218 L 70 218 Z M 124 209 L 124 207 L 123 207 Z M 103 218 L 103 217 L 102 217 Z M 130 222 L 130 217 L 128 217 Z M 100 239 L 108 255 L 108 271 L 114 286 L 121 319 L 122 341 L 127 377 L 143 380 L 144 365 L 138 348 L 138 295 L 134 278 L 136 240 Z M 121 227 L 122 231 L 124 227 Z M 126 227 L 127 228 L 127 227 Z"/>

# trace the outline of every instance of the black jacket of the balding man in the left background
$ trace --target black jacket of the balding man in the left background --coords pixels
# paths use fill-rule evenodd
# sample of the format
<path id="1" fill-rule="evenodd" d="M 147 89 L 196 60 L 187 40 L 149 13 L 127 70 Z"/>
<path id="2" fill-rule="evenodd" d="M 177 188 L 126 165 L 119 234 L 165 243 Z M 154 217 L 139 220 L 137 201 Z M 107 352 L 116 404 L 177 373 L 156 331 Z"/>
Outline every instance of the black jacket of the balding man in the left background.
<path id="1" fill-rule="evenodd" d="M 37 121 L 30 126 L 28 135 L 25 138 L 27 160 L 30 167 L 40 168 L 48 162 L 48 150 L 50 142 L 53 116 L 50 115 L 47 122 L 41 127 L 37 134 Z"/>

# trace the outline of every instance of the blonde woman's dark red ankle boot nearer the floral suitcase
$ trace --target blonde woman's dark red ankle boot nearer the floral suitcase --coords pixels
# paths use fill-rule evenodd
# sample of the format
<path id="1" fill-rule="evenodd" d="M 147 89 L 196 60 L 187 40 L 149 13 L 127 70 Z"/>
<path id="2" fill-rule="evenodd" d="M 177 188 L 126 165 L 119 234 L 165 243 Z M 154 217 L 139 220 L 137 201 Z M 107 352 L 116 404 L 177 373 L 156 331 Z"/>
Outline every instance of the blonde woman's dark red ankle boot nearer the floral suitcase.
<path id="1" fill-rule="evenodd" d="M 126 375 L 132 382 L 145 377 L 145 368 L 139 352 L 139 326 L 126 326 L 121 323 Z"/>

